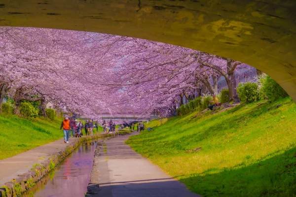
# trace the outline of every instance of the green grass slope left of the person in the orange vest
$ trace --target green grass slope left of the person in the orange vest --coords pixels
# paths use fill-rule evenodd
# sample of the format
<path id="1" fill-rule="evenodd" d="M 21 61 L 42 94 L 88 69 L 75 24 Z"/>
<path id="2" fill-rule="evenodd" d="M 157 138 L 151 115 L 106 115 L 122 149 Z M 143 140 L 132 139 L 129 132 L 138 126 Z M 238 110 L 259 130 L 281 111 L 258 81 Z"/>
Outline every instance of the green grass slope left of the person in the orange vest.
<path id="1" fill-rule="evenodd" d="M 0 114 L 0 160 L 62 138 L 61 122 Z"/>

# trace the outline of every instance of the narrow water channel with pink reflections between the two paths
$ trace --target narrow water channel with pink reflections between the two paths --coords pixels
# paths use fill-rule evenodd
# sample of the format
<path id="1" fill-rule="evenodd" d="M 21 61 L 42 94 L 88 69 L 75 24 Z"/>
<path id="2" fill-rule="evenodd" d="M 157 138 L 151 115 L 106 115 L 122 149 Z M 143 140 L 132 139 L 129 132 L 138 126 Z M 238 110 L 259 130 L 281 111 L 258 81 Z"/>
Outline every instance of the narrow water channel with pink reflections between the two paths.
<path id="1" fill-rule="evenodd" d="M 84 197 L 93 165 L 94 145 L 82 145 L 23 197 Z"/>

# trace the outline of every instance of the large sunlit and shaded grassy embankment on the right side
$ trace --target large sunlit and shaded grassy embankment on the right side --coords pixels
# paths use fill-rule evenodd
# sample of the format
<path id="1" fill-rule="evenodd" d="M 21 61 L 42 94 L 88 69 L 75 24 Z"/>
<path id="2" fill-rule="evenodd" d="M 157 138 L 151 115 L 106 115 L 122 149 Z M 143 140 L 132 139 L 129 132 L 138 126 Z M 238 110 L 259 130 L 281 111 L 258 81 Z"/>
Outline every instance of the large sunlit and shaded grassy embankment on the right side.
<path id="1" fill-rule="evenodd" d="M 191 119 L 195 114 L 152 121 L 152 131 L 127 144 L 202 196 L 296 196 L 296 104 L 290 98 Z"/>

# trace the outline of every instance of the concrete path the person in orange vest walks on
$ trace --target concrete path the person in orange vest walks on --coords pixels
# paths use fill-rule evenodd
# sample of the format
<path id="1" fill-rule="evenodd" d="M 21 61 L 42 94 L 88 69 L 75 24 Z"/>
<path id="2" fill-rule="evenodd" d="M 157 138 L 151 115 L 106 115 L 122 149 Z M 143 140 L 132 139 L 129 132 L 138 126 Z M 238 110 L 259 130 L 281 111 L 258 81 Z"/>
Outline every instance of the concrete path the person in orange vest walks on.
<path id="1" fill-rule="evenodd" d="M 62 136 L 63 132 L 61 132 L 61 139 L 59 140 L 28 150 L 13 157 L 0 160 L 0 187 L 6 182 L 18 178 L 18 174 L 28 172 L 34 164 L 41 164 L 48 160 L 52 155 L 66 150 L 68 145 L 78 141 L 78 138 L 70 137 L 69 143 L 64 143 L 64 138 L 62 138 Z"/>

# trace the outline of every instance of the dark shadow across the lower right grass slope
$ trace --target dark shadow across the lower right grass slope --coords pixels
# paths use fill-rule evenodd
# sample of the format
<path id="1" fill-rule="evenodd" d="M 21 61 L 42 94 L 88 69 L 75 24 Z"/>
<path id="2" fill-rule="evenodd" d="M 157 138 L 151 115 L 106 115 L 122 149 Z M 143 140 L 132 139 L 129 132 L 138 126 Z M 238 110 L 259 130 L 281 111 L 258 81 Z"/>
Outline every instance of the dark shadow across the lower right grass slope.
<path id="1" fill-rule="evenodd" d="M 296 147 L 259 162 L 177 178 L 204 197 L 295 197 Z"/>

